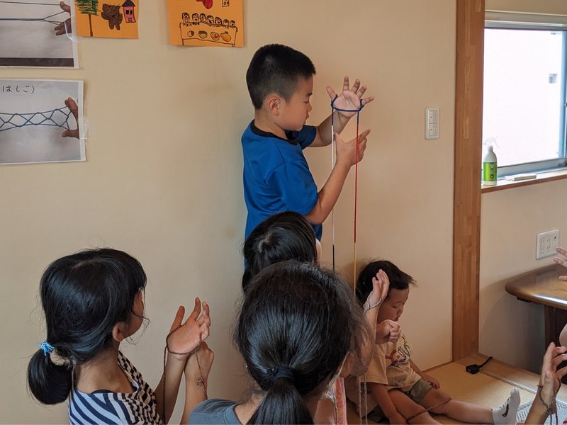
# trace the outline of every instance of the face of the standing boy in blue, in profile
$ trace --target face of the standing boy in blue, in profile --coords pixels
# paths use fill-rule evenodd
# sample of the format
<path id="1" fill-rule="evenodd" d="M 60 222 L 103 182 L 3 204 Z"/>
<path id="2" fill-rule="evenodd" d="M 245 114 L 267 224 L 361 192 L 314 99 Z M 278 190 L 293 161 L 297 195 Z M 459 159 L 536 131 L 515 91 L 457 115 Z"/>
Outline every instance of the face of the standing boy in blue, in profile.
<path id="1" fill-rule="evenodd" d="M 296 92 L 289 102 L 282 100 L 279 109 L 279 126 L 286 131 L 299 131 L 309 118 L 311 103 L 309 98 L 313 94 L 313 77 L 300 79 Z"/>

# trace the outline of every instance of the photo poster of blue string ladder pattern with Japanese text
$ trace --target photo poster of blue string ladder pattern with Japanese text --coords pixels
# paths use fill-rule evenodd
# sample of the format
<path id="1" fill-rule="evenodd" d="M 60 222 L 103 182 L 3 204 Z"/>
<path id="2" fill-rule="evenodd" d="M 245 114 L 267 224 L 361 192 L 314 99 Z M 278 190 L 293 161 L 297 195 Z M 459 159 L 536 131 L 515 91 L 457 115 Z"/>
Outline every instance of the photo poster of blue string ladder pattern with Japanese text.
<path id="1" fill-rule="evenodd" d="M 84 161 L 83 81 L 0 79 L 0 164 Z"/>

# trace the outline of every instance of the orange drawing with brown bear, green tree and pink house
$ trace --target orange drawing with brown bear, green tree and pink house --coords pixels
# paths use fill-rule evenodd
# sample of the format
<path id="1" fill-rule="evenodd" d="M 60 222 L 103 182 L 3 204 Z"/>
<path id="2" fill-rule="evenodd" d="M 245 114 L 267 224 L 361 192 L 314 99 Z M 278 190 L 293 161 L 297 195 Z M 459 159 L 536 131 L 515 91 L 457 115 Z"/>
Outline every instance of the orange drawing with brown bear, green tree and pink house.
<path id="1" fill-rule="evenodd" d="M 132 0 L 75 0 L 77 28 L 84 37 L 138 38 Z"/>

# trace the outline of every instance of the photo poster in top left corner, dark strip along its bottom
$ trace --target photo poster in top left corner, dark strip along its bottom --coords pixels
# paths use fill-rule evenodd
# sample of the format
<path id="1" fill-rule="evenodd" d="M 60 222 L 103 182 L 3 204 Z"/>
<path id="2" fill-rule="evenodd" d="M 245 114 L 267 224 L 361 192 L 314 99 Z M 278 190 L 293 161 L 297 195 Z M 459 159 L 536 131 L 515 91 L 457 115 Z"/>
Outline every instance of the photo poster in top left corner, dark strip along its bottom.
<path id="1" fill-rule="evenodd" d="M 1 67 L 78 68 L 72 1 L 0 0 Z"/>

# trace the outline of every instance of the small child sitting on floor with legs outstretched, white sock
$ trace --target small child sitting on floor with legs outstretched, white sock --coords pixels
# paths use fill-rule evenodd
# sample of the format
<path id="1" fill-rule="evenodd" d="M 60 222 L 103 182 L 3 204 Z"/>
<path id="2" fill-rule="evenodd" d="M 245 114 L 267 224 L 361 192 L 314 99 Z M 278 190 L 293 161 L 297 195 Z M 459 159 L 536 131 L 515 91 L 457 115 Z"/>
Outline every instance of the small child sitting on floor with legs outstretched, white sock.
<path id="1" fill-rule="evenodd" d="M 366 300 L 372 286 L 371 276 L 383 270 L 390 280 L 388 296 L 378 311 L 378 321 L 395 322 L 403 313 L 410 295 L 410 284 L 415 283 L 408 274 L 390 261 L 374 261 L 361 271 L 357 280 L 359 302 Z M 513 389 L 506 402 L 497 409 L 451 399 L 439 390 L 439 382 L 422 372 L 412 362 L 412 350 L 404 334 L 395 343 L 376 345 L 369 369 L 366 371 L 368 409 L 361 412 L 374 421 L 387 418 L 391 424 L 438 424 L 431 413 L 445 414 L 451 419 L 473 424 L 515 424 L 520 393 Z M 347 380 L 347 397 L 359 406 L 359 391 L 353 378 Z M 361 397 L 367 397 L 362 394 Z"/>

